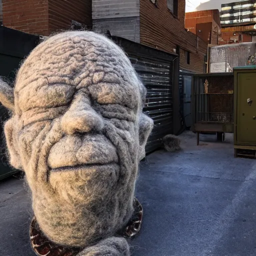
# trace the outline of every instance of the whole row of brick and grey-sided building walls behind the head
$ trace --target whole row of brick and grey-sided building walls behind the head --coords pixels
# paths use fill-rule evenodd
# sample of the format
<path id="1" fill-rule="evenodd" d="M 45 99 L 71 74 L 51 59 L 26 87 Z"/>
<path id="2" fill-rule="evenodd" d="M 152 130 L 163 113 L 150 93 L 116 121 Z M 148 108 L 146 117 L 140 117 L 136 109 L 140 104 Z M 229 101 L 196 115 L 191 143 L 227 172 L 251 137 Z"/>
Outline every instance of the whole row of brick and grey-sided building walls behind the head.
<path id="1" fill-rule="evenodd" d="M 141 44 L 177 52 L 180 67 L 203 72 L 207 43 L 184 27 L 185 0 L 2 0 L 3 25 L 49 35 L 72 20 Z"/>

